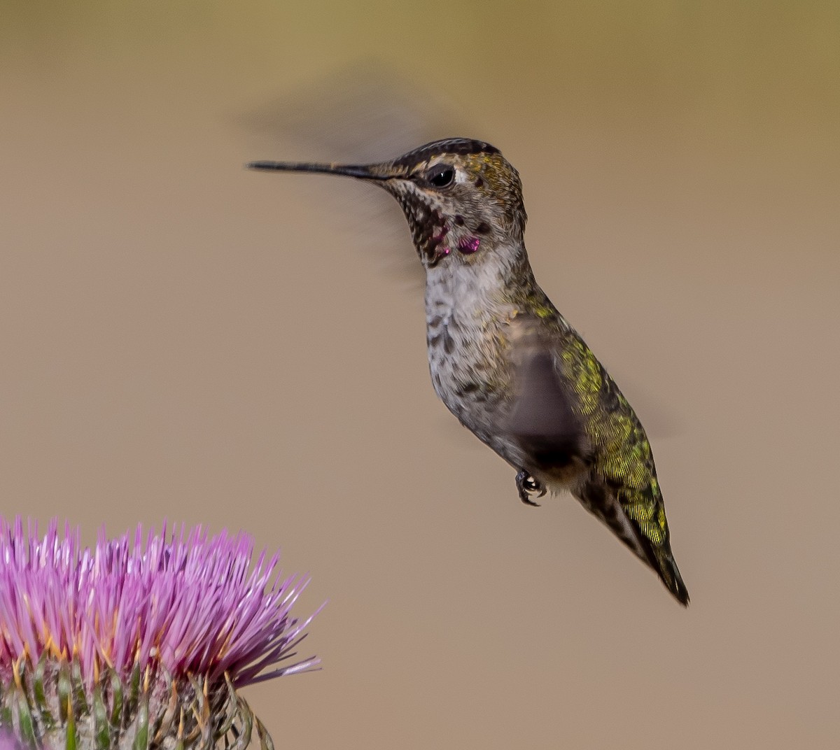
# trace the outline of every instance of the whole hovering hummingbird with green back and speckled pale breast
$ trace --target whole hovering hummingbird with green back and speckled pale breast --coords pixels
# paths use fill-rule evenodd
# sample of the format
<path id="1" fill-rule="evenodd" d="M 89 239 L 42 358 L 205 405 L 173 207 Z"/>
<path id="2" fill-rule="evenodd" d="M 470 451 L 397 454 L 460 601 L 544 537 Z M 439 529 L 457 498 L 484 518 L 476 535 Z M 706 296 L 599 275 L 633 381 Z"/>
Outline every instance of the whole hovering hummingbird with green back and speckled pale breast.
<path id="1" fill-rule="evenodd" d="M 534 279 L 522 181 L 499 149 L 450 138 L 377 164 L 248 167 L 355 177 L 395 197 L 425 269 L 438 397 L 516 470 L 523 503 L 570 492 L 688 605 L 647 434 Z"/>

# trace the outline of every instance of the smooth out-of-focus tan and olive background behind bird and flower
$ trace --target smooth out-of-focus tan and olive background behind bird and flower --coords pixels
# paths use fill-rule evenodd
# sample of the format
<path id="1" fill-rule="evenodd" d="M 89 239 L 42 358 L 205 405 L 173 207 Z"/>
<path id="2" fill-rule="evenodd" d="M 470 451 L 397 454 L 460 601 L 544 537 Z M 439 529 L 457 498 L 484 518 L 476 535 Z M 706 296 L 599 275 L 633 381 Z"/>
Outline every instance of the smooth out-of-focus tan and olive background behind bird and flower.
<path id="1" fill-rule="evenodd" d="M 328 605 L 277 747 L 837 747 L 837 3 L 4 3 L 0 502 L 243 528 Z M 428 380 L 373 186 L 486 139 L 648 427 L 684 611 Z"/>

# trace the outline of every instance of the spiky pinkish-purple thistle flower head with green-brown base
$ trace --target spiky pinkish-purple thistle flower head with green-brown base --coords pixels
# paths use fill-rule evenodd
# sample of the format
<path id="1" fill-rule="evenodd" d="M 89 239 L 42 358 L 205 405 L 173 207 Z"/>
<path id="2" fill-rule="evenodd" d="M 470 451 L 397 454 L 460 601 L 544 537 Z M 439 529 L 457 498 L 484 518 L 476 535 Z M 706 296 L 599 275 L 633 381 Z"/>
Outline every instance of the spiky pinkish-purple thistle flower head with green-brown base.
<path id="1" fill-rule="evenodd" d="M 40 538 L 0 519 L 0 733 L 29 747 L 245 747 L 256 724 L 270 747 L 236 690 L 318 659 L 286 663 L 312 619 L 291 616 L 307 578 L 253 557 L 242 533 L 138 527 L 88 549 L 69 524 Z"/>

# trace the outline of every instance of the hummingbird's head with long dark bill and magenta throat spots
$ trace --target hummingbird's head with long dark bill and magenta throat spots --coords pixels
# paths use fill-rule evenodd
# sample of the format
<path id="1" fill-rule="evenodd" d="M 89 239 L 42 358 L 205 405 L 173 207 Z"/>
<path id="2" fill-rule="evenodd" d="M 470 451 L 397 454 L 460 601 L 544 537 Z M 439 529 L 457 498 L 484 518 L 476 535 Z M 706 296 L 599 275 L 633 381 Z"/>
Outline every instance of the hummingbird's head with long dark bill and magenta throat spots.
<path id="1" fill-rule="evenodd" d="M 483 141 L 433 141 L 379 164 L 258 161 L 249 167 L 346 175 L 384 187 L 402 206 L 427 269 L 480 263 L 522 245 L 527 217 L 519 174 Z"/>

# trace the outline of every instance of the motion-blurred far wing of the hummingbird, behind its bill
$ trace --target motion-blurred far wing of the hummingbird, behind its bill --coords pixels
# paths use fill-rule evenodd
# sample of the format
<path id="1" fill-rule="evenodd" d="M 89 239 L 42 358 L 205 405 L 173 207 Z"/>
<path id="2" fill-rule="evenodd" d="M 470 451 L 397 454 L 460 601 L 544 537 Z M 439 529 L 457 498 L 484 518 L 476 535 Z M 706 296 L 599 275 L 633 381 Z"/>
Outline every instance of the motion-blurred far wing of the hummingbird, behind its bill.
<path id="1" fill-rule="evenodd" d="M 364 164 L 400 154 L 442 134 L 465 129 L 455 102 L 415 81 L 365 61 L 318 76 L 237 118 L 252 153 L 318 154 Z M 319 186 L 318 190 L 331 188 Z M 334 188 L 339 205 L 325 214 L 345 233 L 364 239 L 389 275 L 423 285 L 423 269 L 405 252 L 406 227 L 393 201 L 378 190 Z"/>

